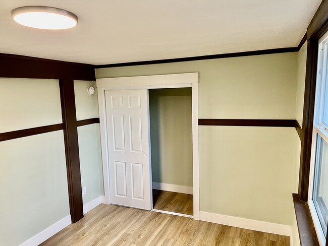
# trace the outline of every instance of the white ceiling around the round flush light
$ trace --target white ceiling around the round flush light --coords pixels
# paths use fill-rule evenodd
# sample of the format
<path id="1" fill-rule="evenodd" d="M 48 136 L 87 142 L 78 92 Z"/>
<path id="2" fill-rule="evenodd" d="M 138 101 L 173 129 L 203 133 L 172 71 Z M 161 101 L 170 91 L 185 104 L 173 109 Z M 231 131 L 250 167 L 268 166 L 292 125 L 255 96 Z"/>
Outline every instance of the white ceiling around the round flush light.
<path id="1" fill-rule="evenodd" d="M 0 0 L 0 52 L 94 65 L 295 47 L 321 0 Z M 11 20 L 22 6 L 65 9 L 68 30 Z"/>

